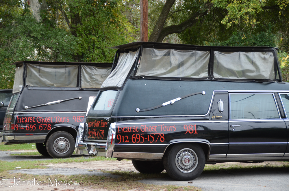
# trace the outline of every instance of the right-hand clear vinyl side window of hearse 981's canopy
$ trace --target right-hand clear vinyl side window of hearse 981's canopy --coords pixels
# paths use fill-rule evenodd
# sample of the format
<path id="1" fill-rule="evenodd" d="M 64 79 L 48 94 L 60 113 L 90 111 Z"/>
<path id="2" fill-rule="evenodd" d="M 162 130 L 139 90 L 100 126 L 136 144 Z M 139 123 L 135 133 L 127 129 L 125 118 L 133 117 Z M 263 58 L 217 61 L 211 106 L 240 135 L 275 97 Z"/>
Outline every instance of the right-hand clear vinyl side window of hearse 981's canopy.
<path id="1" fill-rule="evenodd" d="M 214 51 L 214 78 L 275 80 L 272 52 Z"/>

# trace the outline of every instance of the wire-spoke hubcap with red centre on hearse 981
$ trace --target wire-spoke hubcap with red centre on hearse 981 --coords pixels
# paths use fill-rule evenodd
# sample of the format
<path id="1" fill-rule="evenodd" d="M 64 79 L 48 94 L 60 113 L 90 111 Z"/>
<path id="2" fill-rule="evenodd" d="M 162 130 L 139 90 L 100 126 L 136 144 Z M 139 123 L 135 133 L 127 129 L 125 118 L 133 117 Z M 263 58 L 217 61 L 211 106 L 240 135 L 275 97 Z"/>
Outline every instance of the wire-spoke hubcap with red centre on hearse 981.
<path id="1" fill-rule="evenodd" d="M 181 149 L 176 156 L 176 165 L 183 173 L 192 172 L 198 164 L 198 157 L 195 151 L 189 148 Z"/>

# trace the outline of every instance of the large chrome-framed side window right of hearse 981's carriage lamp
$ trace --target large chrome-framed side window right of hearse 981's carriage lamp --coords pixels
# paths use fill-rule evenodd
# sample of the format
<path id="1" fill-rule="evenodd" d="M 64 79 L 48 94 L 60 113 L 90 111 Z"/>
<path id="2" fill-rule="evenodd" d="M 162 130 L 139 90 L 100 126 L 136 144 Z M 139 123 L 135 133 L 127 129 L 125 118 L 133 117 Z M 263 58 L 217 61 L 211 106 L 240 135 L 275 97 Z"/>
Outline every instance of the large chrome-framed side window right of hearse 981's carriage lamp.
<path id="1" fill-rule="evenodd" d="M 279 119 L 272 93 L 230 93 L 230 119 Z"/>

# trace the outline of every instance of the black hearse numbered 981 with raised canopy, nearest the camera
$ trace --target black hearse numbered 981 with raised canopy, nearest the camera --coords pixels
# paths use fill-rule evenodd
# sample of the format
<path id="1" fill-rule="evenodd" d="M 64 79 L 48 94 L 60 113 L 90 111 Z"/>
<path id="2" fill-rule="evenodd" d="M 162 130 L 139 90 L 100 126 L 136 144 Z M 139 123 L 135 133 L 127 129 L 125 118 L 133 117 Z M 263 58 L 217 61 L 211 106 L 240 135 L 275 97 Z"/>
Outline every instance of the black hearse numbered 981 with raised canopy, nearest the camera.
<path id="1" fill-rule="evenodd" d="M 192 180 L 217 162 L 289 161 L 289 83 L 271 47 L 116 46 L 76 147 Z M 105 149 L 104 149 L 105 148 Z"/>

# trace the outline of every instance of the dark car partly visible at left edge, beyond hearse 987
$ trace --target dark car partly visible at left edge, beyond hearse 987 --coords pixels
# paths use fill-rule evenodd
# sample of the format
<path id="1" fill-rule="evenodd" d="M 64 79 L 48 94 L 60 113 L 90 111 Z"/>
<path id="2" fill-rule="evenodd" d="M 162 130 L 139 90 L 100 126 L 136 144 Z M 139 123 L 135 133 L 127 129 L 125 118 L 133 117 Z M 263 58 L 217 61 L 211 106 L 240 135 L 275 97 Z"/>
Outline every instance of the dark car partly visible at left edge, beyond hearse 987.
<path id="1" fill-rule="evenodd" d="M 11 96 L 12 89 L 0 89 L 0 132 L 2 132 L 3 129 L 3 120 Z"/>

